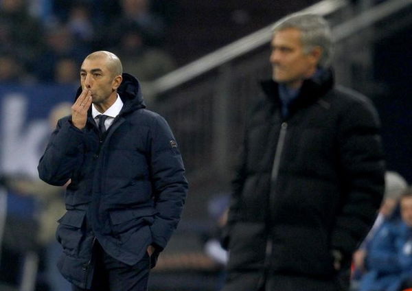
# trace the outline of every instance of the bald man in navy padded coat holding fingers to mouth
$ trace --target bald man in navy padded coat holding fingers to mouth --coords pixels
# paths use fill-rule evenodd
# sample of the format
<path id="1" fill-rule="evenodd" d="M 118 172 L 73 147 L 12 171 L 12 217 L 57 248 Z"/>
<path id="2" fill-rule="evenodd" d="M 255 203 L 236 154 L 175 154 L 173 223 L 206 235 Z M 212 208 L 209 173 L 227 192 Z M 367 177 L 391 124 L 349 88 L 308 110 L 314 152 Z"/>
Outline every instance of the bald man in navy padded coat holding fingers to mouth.
<path id="1" fill-rule="evenodd" d="M 115 54 L 87 56 L 80 80 L 38 165 L 43 181 L 68 183 L 58 268 L 73 290 L 147 290 L 187 195 L 181 154 Z"/>

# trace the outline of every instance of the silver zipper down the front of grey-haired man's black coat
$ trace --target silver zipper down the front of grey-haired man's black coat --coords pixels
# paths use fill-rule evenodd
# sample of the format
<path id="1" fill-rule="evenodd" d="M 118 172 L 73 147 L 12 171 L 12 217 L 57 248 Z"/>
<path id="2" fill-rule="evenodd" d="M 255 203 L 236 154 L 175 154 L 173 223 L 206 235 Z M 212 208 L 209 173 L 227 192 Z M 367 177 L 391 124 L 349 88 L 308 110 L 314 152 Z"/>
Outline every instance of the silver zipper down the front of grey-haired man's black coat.
<path id="1" fill-rule="evenodd" d="M 288 129 L 288 123 L 282 122 L 282 125 L 280 127 L 279 139 L 277 140 L 275 158 L 273 159 L 273 166 L 272 166 L 272 172 L 271 172 L 271 191 L 269 192 L 269 210 L 271 209 L 271 207 L 273 206 L 275 202 L 275 197 L 274 197 L 272 189 L 275 183 L 277 182 L 277 176 L 279 174 L 280 159 L 282 157 L 282 151 L 284 148 L 287 129 Z M 264 287 L 264 284 L 266 283 L 268 272 L 271 268 L 272 252 L 273 252 L 273 237 L 269 231 L 268 238 L 266 240 L 266 248 L 265 248 L 264 275 L 262 279 L 260 280 L 259 288 Z"/>

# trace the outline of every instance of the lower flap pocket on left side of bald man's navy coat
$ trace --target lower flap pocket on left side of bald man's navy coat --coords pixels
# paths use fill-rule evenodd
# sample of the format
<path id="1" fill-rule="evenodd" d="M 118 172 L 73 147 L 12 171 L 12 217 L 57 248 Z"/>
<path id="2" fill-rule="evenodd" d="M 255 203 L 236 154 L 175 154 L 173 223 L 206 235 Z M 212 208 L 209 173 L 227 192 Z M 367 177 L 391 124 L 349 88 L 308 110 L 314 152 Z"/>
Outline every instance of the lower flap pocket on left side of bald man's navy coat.
<path id="1" fill-rule="evenodd" d="M 67 255 L 78 255 L 80 242 L 84 237 L 82 224 L 86 212 L 69 210 L 58 220 L 56 238 Z"/>

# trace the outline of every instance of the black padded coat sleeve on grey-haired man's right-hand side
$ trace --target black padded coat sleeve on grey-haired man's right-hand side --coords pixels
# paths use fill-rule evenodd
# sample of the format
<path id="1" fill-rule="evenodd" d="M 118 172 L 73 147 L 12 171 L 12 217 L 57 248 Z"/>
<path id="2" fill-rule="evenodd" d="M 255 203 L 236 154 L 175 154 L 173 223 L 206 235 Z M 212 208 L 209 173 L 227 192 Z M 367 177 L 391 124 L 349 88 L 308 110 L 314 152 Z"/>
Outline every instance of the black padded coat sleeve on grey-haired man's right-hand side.
<path id="1" fill-rule="evenodd" d="M 343 194 L 331 247 L 350 259 L 376 219 L 385 186 L 378 115 L 367 100 L 360 97 L 341 116 L 337 144 Z"/>

